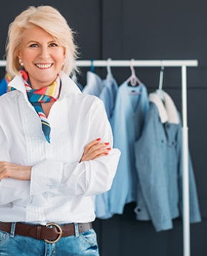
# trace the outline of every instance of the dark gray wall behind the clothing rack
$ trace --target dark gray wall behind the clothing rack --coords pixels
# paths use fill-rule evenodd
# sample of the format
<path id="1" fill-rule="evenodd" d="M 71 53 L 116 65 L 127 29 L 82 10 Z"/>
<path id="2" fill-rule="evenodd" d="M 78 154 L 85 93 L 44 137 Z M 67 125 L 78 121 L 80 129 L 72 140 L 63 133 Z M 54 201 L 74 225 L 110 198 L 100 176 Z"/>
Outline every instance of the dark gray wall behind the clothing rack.
<path id="1" fill-rule="evenodd" d="M 57 7 L 69 25 L 77 31 L 76 41 L 82 59 L 184 60 L 197 59 L 198 68 L 188 68 L 189 147 L 193 160 L 203 221 L 191 225 L 191 255 L 206 256 L 206 111 L 207 111 L 207 2 L 206 0 L 59 0 L 14 1 L 1 5 L 0 58 L 9 23 L 29 5 L 50 4 Z M 80 81 L 85 83 L 82 69 Z M 136 68 L 136 74 L 149 91 L 158 88 L 159 68 Z M 0 74 L 4 76 L 4 68 Z M 95 68 L 105 78 L 105 68 Z M 113 68 L 118 83 L 130 76 L 129 68 Z M 164 88 L 181 106 L 180 69 L 165 68 Z M 181 256 L 183 255 L 182 221 L 156 233 L 150 221 L 136 221 L 134 204 L 122 215 L 95 221 L 102 256 Z"/>

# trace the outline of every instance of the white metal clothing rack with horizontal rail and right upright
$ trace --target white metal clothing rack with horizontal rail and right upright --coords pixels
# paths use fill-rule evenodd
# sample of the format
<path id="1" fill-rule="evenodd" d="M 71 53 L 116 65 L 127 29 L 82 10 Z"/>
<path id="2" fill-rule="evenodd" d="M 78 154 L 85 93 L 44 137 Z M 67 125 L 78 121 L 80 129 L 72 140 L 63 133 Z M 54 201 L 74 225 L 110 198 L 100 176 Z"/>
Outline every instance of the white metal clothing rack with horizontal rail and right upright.
<path id="1" fill-rule="evenodd" d="M 6 61 L 0 60 L 0 67 Z M 79 67 L 127 67 L 132 60 L 77 60 Z M 133 67 L 180 67 L 182 87 L 182 119 L 183 119 L 183 256 L 191 255 L 191 234 L 189 214 L 189 176 L 188 176 L 188 122 L 187 122 L 187 67 L 197 67 L 198 60 L 133 60 Z"/>

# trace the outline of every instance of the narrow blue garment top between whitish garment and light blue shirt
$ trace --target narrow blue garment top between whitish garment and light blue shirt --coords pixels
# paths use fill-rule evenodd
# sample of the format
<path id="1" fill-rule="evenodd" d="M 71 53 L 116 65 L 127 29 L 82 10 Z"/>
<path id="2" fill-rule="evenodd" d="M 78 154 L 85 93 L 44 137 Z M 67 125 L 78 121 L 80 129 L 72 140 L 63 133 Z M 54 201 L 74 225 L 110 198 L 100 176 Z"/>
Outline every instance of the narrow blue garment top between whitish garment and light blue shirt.
<path id="1" fill-rule="evenodd" d="M 115 100 L 118 89 L 117 82 L 111 73 L 108 73 L 107 78 L 102 81 L 102 86 L 100 99 L 104 102 L 108 119 L 110 119 L 115 108 Z"/>

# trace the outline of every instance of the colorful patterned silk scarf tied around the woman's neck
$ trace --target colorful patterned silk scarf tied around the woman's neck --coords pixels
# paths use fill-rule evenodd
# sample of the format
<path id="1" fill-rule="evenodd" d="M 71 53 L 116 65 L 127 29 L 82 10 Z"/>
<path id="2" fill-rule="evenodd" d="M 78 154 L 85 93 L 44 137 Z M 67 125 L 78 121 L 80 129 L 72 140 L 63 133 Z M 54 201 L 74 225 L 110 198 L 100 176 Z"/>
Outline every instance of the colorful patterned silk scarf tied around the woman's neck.
<path id="1" fill-rule="evenodd" d="M 61 80 L 57 76 L 57 80 L 52 83 L 50 86 L 42 87 L 38 90 L 32 89 L 31 83 L 29 81 L 29 76 L 26 70 L 20 70 L 22 77 L 24 78 L 24 85 L 26 87 L 27 96 L 29 102 L 34 106 L 34 109 L 37 111 L 39 118 L 42 123 L 42 131 L 47 142 L 50 143 L 49 134 L 50 134 L 50 125 L 47 121 L 47 116 L 44 114 L 41 103 L 57 101 L 59 93 L 61 90 Z M 13 91 L 15 88 L 10 87 L 9 91 Z"/>

